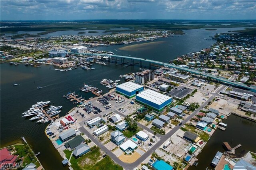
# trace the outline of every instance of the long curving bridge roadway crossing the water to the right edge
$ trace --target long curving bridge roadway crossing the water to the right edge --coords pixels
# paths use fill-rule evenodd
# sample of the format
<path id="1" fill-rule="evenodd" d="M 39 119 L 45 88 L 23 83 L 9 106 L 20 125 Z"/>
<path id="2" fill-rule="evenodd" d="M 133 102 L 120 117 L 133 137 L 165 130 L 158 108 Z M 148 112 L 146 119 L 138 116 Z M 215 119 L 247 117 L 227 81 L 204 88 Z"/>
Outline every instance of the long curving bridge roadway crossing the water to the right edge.
<path id="1" fill-rule="evenodd" d="M 248 90 L 250 90 L 252 92 L 256 92 L 256 87 L 252 86 L 252 85 L 249 87 L 249 86 L 247 86 L 245 84 L 238 83 L 238 82 L 233 82 L 231 80 L 228 80 L 228 79 L 225 79 L 225 78 L 222 78 L 222 77 L 214 76 L 214 75 L 207 74 L 207 73 L 202 73 L 200 71 L 196 71 L 196 70 L 193 70 L 193 69 L 188 69 L 188 68 L 185 68 L 185 67 L 180 67 L 178 65 L 164 63 L 164 62 L 160 62 L 160 61 L 155 61 L 155 60 L 150 60 L 150 59 L 143 59 L 143 58 L 138 58 L 138 57 L 130 57 L 130 56 L 122 56 L 122 55 L 110 55 L 110 54 L 100 54 L 100 53 L 70 53 L 70 54 L 77 54 L 77 55 L 79 55 L 79 54 L 82 54 L 82 55 L 100 55 L 100 56 L 109 56 L 109 57 L 119 57 L 119 58 L 125 58 L 125 59 L 135 59 L 135 60 L 138 60 L 138 61 L 146 61 L 146 62 L 149 62 L 149 63 L 158 64 L 158 65 L 167 65 L 168 67 L 172 67 L 172 68 L 179 69 L 179 70 L 182 70 L 182 71 L 188 71 L 190 73 L 197 74 L 197 75 L 202 75 L 202 76 L 205 76 L 205 77 L 210 77 L 212 79 L 215 79 L 217 81 L 221 81 L 223 83 L 227 83 L 227 84 L 230 84 L 230 85 L 235 85 L 237 87 L 242 87 L 242 88 L 248 89 Z"/>

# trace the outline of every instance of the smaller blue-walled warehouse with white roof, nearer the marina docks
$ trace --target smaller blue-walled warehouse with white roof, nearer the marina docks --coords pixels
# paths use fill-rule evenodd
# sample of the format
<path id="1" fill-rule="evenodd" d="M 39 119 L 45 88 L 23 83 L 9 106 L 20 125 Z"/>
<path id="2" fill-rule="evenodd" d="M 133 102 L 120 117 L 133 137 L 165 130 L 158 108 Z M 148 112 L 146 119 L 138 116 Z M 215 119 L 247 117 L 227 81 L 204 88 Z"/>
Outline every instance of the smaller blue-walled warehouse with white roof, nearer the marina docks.
<path id="1" fill-rule="evenodd" d="M 128 98 L 134 97 L 136 94 L 139 94 L 143 90 L 144 90 L 143 86 L 138 85 L 136 83 L 132 83 L 130 81 L 116 86 L 116 93 L 124 95 Z"/>

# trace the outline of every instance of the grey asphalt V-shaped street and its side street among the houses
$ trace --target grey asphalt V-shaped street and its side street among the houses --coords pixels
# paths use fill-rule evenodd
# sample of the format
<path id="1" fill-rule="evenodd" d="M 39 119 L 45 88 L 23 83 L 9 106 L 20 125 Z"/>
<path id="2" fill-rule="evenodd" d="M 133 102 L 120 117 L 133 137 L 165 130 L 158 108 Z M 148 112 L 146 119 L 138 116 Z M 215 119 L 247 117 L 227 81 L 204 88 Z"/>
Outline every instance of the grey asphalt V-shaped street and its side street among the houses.
<path id="1" fill-rule="evenodd" d="M 212 99 L 214 98 L 214 96 L 216 94 L 218 94 L 222 89 L 224 89 L 226 86 L 222 86 L 220 87 L 220 89 L 218 89 L 216 91 L 216 93 L 213 93 L 212 96 L 206 100 L 200 107 L 198 107 L 198 109 L 196 109 L 193 113 L 191 113 L 186 119 L 184 119 L 182 121 L 182 125 L 184 125 L 185 123 L 187 123 L 191 118 L 193 118 L 196 113 L 198 113 L 200 110 L 202 110 L 204 108 L 204 106 L 209 102 L 212 101 Z M 123 117 L 125 117 L 125 115 L 123 115 L 122 113 L 118 112 L 118 111 L 114 111 L 115 113 L 118 113 L 120 115 L 122 115 Z M 141 125 L 138 123 L 138 125 L 141 127 L 143 127 L 144 129 L 153 132 L 151 129 Z M 88 132 L 88 130 L 86 130 L 83 125 L 82 127 L 79 128 L 79 130 L 86 134 L 97 146 L 100 147 L 101 150 L 103 150 L 104 152 L 106 152 L 106 154 L 108 154 L 108 156 L 110 156 L 110 158 L 112 158 L 112 160 L 114 160 L 114 162 L 116 162 L 117 164 L 119 164 L 120 166 L 122 166 L 124 169 L 126 170 L 132 170 L 134 168 L 136 168 L 137 166 L 139 166 L 139 164 L 141 164 L 146 158 L 148 158 L 148 156 L 150 156 L 156 149 L 158 149 L 162 144 L 164 144 L 164 142 L 166 140 L 168 140 L 170 138 L 170 136 L 172 136 L 175 132 L 177 132 L 179 130 L 180 126 L 176 126 L 174 128 L 172 128 L 172 130 L 170 130 L 167 134 L 165 135 L 160 135 L 157 134 L 156 136 L 161 137 L 160 140 L 154 145 L 152 146 L 152 148 L 150 148 L 147 152 L 145 152 L 142 156 L 140 156 L 140 158 L 138 158 L 135 162 L 128 164 L 128 163 L 124 163 L 122 162 L 118 157 L 116 157 L 115 154 L 113 154 L 111 151 L 108 150 L 108 148 L 106 148 L 101 142 L 98 141 L 98 139 L 94 138 L 94 136 L 92 136 L 92 134 L 90 134 L 90 132 Z"/>

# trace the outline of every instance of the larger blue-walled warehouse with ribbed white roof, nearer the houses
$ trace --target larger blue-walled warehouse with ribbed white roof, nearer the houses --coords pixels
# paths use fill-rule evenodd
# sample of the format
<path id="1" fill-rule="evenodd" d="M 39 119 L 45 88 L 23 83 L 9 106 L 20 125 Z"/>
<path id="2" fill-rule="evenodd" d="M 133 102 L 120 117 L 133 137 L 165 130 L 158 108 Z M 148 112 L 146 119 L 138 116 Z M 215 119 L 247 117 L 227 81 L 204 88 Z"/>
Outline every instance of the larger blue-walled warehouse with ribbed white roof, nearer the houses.
<path id="1" fill-rule="evenodd" d="M 172 98 L 147 89 L 136 95 L 136 101 L 154 109 L 157 112 L 161 112 L 164 107 L 172 103 Z"/>

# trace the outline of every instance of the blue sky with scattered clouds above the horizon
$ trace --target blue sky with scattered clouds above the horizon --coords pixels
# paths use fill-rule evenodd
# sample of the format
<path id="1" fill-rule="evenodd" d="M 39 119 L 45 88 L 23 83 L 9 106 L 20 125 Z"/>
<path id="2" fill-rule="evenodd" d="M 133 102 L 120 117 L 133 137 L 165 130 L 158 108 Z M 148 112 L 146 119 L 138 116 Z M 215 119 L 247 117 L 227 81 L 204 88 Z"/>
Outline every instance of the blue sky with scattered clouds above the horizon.
<path id="1" fill-rule="evenodd" d="M 0 20 L 256 20 L 256 0 L 0 0 Z"/>

